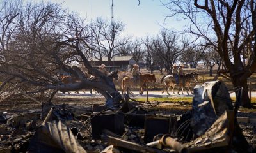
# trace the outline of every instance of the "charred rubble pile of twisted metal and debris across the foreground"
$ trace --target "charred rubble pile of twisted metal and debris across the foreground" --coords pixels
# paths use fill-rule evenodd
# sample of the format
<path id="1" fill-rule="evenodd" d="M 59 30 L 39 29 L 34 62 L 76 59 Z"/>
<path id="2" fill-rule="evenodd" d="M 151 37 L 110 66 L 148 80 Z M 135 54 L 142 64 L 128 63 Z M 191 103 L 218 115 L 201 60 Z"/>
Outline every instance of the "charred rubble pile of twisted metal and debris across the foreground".
<path id="1" fill-rule="evenodd" d="M 255 151 L 248 143 L 255 128 L 241 130 L 223 82 L 197 85 L 194 93 L 192 110 L 181 115 L 155 114 L 132 101 L 115 110 L 47 103 L 41 113 L 1 113 L 0 153 Z"/>

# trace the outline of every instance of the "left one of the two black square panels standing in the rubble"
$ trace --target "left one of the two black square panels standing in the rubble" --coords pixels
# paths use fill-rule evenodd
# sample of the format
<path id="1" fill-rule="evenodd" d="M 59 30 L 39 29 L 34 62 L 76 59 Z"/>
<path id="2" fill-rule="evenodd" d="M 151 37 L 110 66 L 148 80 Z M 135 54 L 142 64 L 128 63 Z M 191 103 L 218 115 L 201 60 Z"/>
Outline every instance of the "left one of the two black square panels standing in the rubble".
<path id="1" fill-rule="evenodd" d="M 104 129 L 108 129 L 116 135 L 122 136 L 124 133 L 124 114 L 100 114 L 92 118 L 91 125 L 93 139 L 99 140 Z"/>

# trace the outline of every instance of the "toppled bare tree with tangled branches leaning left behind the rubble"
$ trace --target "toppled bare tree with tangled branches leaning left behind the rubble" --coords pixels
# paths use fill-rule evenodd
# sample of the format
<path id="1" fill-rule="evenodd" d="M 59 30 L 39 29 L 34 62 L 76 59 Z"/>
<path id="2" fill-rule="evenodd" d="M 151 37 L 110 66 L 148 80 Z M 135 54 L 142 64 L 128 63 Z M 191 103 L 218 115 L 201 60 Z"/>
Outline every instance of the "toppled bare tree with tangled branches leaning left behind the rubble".
<path id="1" fill-rule="evenodd" d="M 92 68 L 83 54 L 90 50 L 90 25 L 74 13 L 68 13 L 57 4 L 28 3 L 22 13 L 15 17 L 17 28 L 10 36 L 8 50 L 1 56 L 0 73 L 15 78 L 17 87 L 28 87 L 33 94 L 48 89 L 56 91 L 76 91 L 93 88 L 106 98 L 106 106 L 118 104 L 122 96 L 115 89 L 113 81 L 99 70 Z M 3 26 L 0 27 L 1 31 Z M 4 37 L 7 38 L 7 37 Z M 89 80 L 77 66 L 81 61 L 88 73 L 99 77 Z M 74 84 L 63 84 L 61 73 L 69 73 L 79 78 Z"/>

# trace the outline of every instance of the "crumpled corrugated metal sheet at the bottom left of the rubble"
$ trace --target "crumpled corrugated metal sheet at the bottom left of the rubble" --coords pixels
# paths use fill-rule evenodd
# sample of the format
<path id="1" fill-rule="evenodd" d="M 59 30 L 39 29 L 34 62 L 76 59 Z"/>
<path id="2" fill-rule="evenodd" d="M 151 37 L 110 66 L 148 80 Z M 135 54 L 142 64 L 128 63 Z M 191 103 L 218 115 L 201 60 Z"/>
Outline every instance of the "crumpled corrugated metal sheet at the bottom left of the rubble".
<path id="1" fill-rule="evenodd" d="M 29 144 L 28 152 L 81 152 L 86 151 L 61 121 L 46 122 L 36 131 Z"/>

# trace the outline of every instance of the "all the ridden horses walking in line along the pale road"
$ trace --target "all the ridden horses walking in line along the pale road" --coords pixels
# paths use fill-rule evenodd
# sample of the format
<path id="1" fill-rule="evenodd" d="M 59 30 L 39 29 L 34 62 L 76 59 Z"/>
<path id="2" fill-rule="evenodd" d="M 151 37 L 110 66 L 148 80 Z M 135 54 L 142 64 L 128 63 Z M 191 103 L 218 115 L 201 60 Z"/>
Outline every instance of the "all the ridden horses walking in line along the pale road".
<path id="1" fill-rule="evenodd" d="M 109 78 L 111 78 L 112 80 L 113 79 L 118 80 L 118 71 L 112 71 L 112 72 L 108 73 L 107 76 Z M 97 78 L 91 76 L 88 79 L 95 80 Z M 80 80 L 78 78 L 68 76 L 68 75 L 61 77 L 61 82 L 63 82 L 63 84 L 72 84 L 72 83 L 79 82 L 79 81 Z M 154 74 L 141 74 L 138 80 L 134 79 L 134 77 L 124 77 L 124 78 L 122 78 L 122 82 L 121 82 L 122 94 L 124 94 L 125 91 L 128 91 L 128 89 L 131 89 L 132 87 L 136 87 L 136 86 L 140 87 L 139 92 L 140 92 L 140 94 L 143 94 L 143 91 L 146 87 L 147 82 L 156 82 L 156 76 Z M 198 82 L 198 74 L 197 73 L 187 73 L 186 75 L 181 75 L 179 77 L 179 84 L 177 84 L 173 75 L 164 75 L 161 78 L 161 84 L 164 83 L 162 93 L 164 93 L 164 91 L 166 90 L 167 94 L 170 95 L 169 89 L 170 89 L 170 87 L 172 87 L 172 92 L 173 92 L 173 94 L 175 94 L 175 92 L 173 90 L 174 90 L 175 85 L 178 85 L 179 91 L 182 88 L 182 94 L 183 94 L 184 89 L 187 91 L 187 94 L 189 94 L 188 89 L 191 92 L 191 94 L 193 94 L 193 92 L 191 91 L 191 88 L 190 88 L 191 82 L 195 82 L 195 84 L 196 84 L 196 82 Z M 187 87 L 188 87 L 188 89 L 187 89 Z M 178 91 L 178 94 L 179 94 L 179 91 Z M 77 92 L 77 94 L 79 94 L 78 91 L 76 91 L 76 92 Z M 92 89 L 91 89 L 90 93 L 92 94 Z"/>

